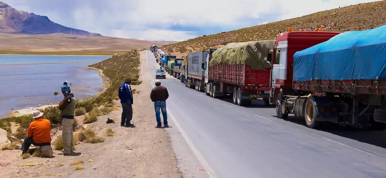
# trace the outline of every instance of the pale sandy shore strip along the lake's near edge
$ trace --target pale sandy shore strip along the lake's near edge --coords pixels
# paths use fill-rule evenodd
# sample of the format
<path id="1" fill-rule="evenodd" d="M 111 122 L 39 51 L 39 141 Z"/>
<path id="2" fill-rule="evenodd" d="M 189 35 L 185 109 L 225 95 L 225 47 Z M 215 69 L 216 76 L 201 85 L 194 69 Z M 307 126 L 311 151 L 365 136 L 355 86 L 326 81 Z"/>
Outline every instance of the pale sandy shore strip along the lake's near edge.
<path id="1" fill-rule="evenodd" d="M 97 94 L 95 94 L 95 97 L 101 95 L 103 92 L 106 91 L 106 88 L 108 88 L 110 86 L 109 79 L 103 74 L 103 70 L 101 70 L 101 69 L 97 69 L 97 68 L 93 68 L 93 67 L 88 67 L 88 66 L 86 68 L 99 72 L 99 76 L 103 80 L 102 81 L 102 87 L 104 88 L 104 90 L 101 91 L 101 92 L 98 92 Z M 50 107 L 50 106 L 58 106 L 58 105 L 57 104 L 53 104 L 53 105 L 42 105 L 42 106 L 39 106 L 39 107 L 28 107 L 28 108 L 24 108 L 24 109 L 15 110 L 15 111 L 9 111 L 7 113 L 9 113 L 8 115 L 11 116 L 11 117 L 13 117 L 13 116 L 17 117 L 17 116 L 26 115 L 26 114 L 32 114 L 35 110 L 45 109 L 45 108 Z M 0 118 L 0 119 L 2 119 L 2 118 Z"/>

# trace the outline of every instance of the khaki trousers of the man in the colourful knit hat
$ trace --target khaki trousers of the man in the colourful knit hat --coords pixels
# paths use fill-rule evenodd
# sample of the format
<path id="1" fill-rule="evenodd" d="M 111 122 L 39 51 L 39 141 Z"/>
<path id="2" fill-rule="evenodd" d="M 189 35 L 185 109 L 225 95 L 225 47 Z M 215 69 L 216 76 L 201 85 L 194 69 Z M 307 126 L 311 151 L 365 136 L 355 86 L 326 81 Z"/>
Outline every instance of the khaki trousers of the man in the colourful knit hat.
<path id="1" fill-rule="evenodd" d="M 74 131 L 72 126 L 74 125 L 74 120 L 70 118 L 63 118 L 61 120 L 61 126 L 63 127 L 62 138 L 65 148 L 62 150 L 65 154 L 70 154 L 74 151 Z"/>

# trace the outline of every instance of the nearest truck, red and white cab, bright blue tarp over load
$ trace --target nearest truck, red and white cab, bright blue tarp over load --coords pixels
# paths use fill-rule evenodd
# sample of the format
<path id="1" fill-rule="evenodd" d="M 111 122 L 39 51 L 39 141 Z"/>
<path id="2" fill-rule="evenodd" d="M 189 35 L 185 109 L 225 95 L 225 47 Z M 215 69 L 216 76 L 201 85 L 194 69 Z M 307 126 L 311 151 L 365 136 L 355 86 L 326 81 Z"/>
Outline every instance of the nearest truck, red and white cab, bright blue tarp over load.
<path id="1" fill-rule="evenodd" d="M 362 32 L 277 36 L 272 100 L 277 117 L 386 129 L 386 25 Z M 306 42 L 306 43 L 305 43 Z"/>

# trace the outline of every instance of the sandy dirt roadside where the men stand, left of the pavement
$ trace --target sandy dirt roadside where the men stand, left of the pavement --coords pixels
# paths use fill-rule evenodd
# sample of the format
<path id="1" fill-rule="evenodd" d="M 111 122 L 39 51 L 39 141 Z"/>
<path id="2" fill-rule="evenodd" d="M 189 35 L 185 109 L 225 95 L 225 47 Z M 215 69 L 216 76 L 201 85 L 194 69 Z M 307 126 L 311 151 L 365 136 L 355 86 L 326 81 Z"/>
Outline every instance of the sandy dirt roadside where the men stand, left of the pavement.
<path id="1" fill-rule="evenodd" d="M 141 69 L 143 65 L 144 61 L 141 61 Z M 54 158 L 23 160 L 19 150 L 0 151 L 0 177 L 181 177 L 167 132 L 155 128 L 153 103 L 149 98 L 150 75 L 147 73 L 147 70 L 141 70 L 143 84 L 132 86 L 140 91 L 134 96 L 133 105 L 132 123 L 136 128 L 120 127 L 121 107 L 116 101 L 115 110 L 99 116 L 97 122 L 82 125 L 83 116 L 77 117 L 80 129 L 92 128 L 98 136 L 105 138 L 105 142 L 77 144 L 79 156 L 62 156 L 58 155 L 59 151 L 54 151 Z M 108 117 L 115 123 L 106 124 Z M 115 132 L 114 136 L 106 136 L 108 128 Z M 84 161 L 79 164 L 84 169 L 74 170 L 74 166 L 70 166 L 78 160 Z M 21 166 L 24 163 L 41 165 Z"/>

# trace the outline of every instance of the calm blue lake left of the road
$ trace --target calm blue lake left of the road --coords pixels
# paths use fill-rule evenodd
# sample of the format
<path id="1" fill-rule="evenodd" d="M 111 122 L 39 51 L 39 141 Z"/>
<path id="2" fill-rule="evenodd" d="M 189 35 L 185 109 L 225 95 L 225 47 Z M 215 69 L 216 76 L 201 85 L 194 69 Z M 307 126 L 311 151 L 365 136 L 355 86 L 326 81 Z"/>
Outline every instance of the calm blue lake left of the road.
<path id="1" fill-rule="evenodd" d="M 0 55 L 0 118 L 8 116 L 12 108 L 57 104 L 63 99 L 60 87 L 66 80 L 77 100 L 104 91 L 99 72 L 86 67 L 109 57 Z"/>

